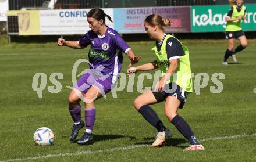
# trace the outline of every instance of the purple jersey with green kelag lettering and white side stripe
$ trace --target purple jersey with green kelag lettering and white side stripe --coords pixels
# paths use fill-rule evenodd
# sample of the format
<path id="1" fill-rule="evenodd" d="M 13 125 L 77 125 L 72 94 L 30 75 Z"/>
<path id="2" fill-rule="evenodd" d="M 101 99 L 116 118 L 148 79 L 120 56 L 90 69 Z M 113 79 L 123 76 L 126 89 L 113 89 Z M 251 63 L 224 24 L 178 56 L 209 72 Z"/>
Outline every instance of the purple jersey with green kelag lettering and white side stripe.
<path id="1" fill-rule="evenodd" d="M 78 41 L 78 44 L 84 47 L 91 45 L 88 53 L 89 61 L 96 69 L 99 65 L 104 66 L 101 70 L 103 75 L 110 74 L 112 83 L 116 82 L 123 63 L 122 52 L 127 53 L 130 47 L 116 30 L 107 28 L 103 36 L 88 31 Z"/>

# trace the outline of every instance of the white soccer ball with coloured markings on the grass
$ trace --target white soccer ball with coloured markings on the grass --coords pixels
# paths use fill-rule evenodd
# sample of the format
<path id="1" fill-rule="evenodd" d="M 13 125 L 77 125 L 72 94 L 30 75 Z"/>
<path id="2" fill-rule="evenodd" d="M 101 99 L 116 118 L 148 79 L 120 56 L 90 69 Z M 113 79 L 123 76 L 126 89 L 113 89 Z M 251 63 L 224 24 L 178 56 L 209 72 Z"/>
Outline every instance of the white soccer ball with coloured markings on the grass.
<path id="1" fill-rule="evenodd" d="M 47 127 L 38 128 L 34 133 L 34 142 L 40 146 L 52 145 L 54 142 L 54 132 Z"/>

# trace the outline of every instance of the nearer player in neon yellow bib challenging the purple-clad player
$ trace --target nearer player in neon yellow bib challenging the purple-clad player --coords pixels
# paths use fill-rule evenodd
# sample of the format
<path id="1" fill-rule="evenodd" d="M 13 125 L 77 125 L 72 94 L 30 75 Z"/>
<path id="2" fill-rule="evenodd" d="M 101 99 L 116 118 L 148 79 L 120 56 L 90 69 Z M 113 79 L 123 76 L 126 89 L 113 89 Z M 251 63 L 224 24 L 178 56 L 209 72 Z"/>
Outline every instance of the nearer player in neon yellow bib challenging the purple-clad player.
<path id="1" fill-rule="evenodd" d="M 191 143 L 186 150 L 204 150 L 195 138 L 189 124 L 177 114 L 186 102 L 187 95 L 192 92 L 192 78 L 189 61 L 189 51 L 185 45 L 170 34 L 164 27 L 170 26 L 170 20 L 152 14 L 144 21 L 145 31 L 156 42 L 152 48 L 157 57 L 153 62 L 137 67 L 130 67 L 127 75 L 137 71 L 160 69 L 162 78 L 152 90 L 149 90 L 134 100 L 134 107 L 153 125 L 158 134 L 152 147 L 162 146 L 166 140 L 165 127 L 157 113 L 149 106 L 165 101 L 165 115 L 175 125 L 178 131 Z"/>

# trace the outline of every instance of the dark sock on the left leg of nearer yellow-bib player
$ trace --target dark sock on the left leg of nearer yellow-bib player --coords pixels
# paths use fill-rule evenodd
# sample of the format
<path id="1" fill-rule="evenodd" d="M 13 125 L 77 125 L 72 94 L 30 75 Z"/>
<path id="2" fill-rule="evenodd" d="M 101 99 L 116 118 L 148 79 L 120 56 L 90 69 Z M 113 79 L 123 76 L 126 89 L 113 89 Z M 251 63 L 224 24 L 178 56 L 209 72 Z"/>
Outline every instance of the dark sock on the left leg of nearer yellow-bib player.
<path id="1" fill-rule="evenodd" d="M 138 111 L 143 115 L 145 120 L 148 121 L 151 125 L 153 125 L 158 132 L 165 131 L 165 126 L 163 125 L 162 121 L 157 116 L 157 113 L 148 105 L 141 106 Z"/>

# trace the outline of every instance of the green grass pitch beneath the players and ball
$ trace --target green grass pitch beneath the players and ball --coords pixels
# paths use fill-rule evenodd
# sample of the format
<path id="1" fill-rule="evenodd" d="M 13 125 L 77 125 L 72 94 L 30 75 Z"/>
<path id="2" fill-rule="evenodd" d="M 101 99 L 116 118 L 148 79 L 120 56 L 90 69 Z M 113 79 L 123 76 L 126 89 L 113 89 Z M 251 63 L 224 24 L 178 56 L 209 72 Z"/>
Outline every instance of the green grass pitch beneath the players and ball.
<path id="1" fill-rule="evenodd" d="M 0 41 L 0 161 L 256 161 L 256 40 L 237 54 L 239 63 L 222 66 L 225 41 L 184 40 L 190 49 L 191 69 L 195 74 L 207 73 L 209 84 L 191 93 L 179 114 L 187 120 L 205 151 L 184 152 L 189 145 L 166 119 L 163 103 L 154 105 L 173 138 L 161 148 L 151 148 L 157 131 L 133 108 L 139 93 L 118 92 L 114 99 L 95 102 L 97 118 L 95 143 L 79 146 L 69 142 L 72 118 L 67 110 L 67 96 L 72 85 L 72 67 L 77 59 L 87 58 L 88 49 L 76 50 L 48 44 L 6 44 Z M 139 64 L 154 60 L 152 42 L 130 42 Z M 229 60 L 231 62 L 231 60 Z M 124 57 L 125 72 L 129 59 Z M 80 70 L 87 66 L 80 66 Z M 49 93 L 49 76 L 62 73 L 59 93 Z M 47 87 L 39 99 L 32 89 L 35 73 L 47 74 Z M 153 73 L 153 71 L 152 71 Z M 214 73 L 224 73 L 224 89 L 211 93 Z M 136 75 L 136 79 L 137 79 Z M 144 80 L 150 86 L 152 80 Z M 256 89 L 255 89 L 256 91 Z M 82 112 L 82 116 L 84 112 Z M 54 146 L 35 146 L 34 131 L 49 127 L 54 131 Z M 80 131 L 80 135 L 83 131 Z"/>

